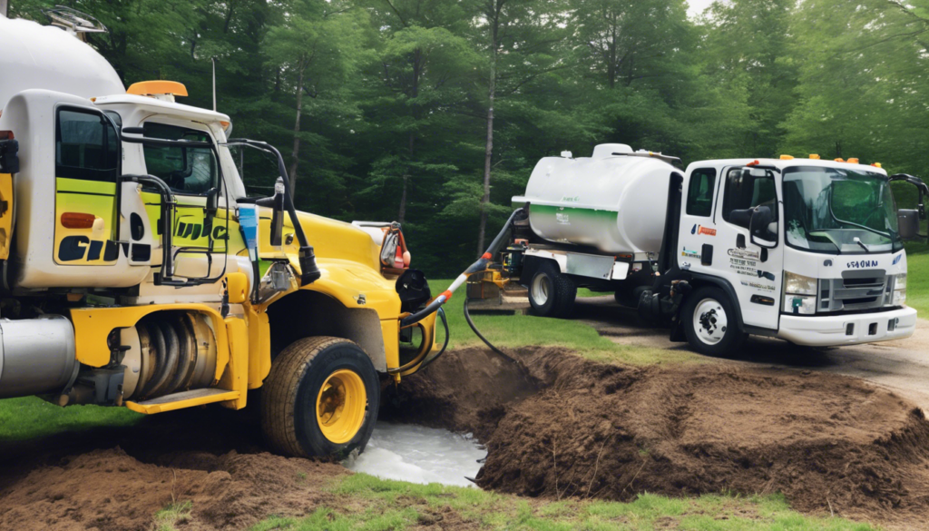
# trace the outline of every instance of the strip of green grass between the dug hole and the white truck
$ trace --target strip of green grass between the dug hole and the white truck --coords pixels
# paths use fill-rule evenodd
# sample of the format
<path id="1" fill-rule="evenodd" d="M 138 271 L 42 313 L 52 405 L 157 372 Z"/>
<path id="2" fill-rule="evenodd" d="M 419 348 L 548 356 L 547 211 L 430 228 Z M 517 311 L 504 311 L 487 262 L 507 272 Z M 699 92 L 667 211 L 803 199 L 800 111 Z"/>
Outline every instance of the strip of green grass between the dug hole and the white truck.
<path id="1" fill-rule="evenodd" d="M 451 280 L 431 280 L 432 293 L 444 291 Z M 451 341 L 449 348 L 482 345 L 483 343 L 464 320 L 462 308 L 465 286 L 460 287 L 445 305 L 449 318 Z M 590 325 L 579 321 L 550 319 L 533 315 L 486 315 L 471 313 L 471 318 L 481 334 L 498 347 L 522 347 L 545 345 L 566 347 L 582 356 L 604 363 L 620 362 L 633 365 L 648 365 L 669 362 L 698 362 L 700 358 L 684 350 L 668 351 L 649 347 L 618 345 L 600 336 Z M 439 328 L 441 324 L 438 325 Z M 438 332 L 438 341 L 445 338 Z"/>

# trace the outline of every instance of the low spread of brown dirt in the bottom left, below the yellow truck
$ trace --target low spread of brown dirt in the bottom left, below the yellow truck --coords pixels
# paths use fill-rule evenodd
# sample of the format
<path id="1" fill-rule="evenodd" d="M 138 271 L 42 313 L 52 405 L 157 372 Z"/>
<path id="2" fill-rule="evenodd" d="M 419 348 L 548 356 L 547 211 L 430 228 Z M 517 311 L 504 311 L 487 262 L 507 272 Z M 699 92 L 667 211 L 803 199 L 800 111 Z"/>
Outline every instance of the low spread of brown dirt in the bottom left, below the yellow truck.
<path id="1" fill-rule="evenodd" d="M 331 502 L 320 479 L 347 473 L 267 453 L 185 458 L 162 467 L 119 447 L 63 458 L 0 493 L 0 529 L 150 529 L 152 516 L 175 500 L 192 501 L 184 529 L 243 529 L 269 513 L 306 514 Z"/>

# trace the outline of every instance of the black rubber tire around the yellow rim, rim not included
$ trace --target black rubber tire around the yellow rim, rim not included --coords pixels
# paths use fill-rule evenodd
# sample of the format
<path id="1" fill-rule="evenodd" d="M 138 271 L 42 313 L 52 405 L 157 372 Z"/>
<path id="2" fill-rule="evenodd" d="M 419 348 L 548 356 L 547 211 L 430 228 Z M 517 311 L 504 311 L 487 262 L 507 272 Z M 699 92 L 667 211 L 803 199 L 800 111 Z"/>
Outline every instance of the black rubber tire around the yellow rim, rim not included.
<path id="1" fill-rule="evenodd" d="M 342 370 L 354 373 L 363 383 L 364 419 L 350 440 L 334 442 L 322 431 L 317 400 L 323 384 Z M 379 406 L 377 371 L 357 344 L 341 338 L 297 339 L 274 359 L 262 386 L 261 428 L 276 453 L 345 458 L 352 450 L 362 451 L 368 444 Z"/>

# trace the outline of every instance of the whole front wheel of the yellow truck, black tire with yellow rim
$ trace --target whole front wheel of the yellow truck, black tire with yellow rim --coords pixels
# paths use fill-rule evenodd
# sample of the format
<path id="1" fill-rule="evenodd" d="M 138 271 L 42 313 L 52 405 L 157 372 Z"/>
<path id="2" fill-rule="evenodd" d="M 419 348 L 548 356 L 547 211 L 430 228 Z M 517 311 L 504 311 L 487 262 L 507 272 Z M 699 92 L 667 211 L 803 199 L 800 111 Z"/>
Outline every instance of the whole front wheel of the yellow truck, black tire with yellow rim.
<path id="1" fill-rule="evenodd" d="M 368 444 L 379 403 L 377 372 L 358 345 L 297 339 L 275 358 L 262 386 L 261 428 L 280 454 L 345 457 Z"/>

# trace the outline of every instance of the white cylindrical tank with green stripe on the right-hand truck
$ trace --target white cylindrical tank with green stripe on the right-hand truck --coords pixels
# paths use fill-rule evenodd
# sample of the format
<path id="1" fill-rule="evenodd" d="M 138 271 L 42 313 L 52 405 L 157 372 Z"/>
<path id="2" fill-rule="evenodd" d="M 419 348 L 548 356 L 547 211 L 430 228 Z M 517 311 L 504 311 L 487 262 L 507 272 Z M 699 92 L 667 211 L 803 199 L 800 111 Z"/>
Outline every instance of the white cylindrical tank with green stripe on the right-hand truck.
<path id="1" fill-rule="evenodd" d="M 674 166 L 625 144 L 601 144 L 590 158 L 545 157 L 526 194 L 530 225 L 545 240 L 605 253 L 658 253 Z"/>

